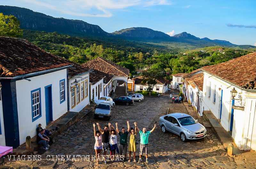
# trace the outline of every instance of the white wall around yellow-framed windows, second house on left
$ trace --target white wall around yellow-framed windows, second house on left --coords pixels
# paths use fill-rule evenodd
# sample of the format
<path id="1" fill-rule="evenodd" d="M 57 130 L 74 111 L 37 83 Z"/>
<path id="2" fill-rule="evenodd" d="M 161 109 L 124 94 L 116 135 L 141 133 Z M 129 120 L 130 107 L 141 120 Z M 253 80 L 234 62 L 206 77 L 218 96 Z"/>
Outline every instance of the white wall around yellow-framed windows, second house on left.
<path id="1" fill-rule="evenodd" d="M 78 78 L 78 77 L 82 77 L 82 78 Z M 78 77 L 72 77 L 72 78 L 69 78 L 69 109 L 70 111 L 72 112 L 80 112 L 85 106 L 89 105 L 89 73 L 85 73 L 83 75 L 79 75 Z M 75 106 L 72 106 L 72 98 L 71 98 L 71 87 L 75 87 L 74 86 L 74 81 L 75 79 L 78 81 L 78 84 L 79 84 L 79 87 L 80 87 L 80 96 L 79 96 L 79 100 L 80 102 L 77 102 L 77 99 L 76 99 L 76 96 L 77 96 L 77 93 L 76 93 L 76 90 L 75 90 Z M 84 95 L 84 99 L 82 100 L 81 96 L 81 83 L 84 82 L 84 93 L 85 93 L 85 81 L 87 81 L 87 95 L 85 96 Z M 92 92 L 92 90 L 91 90 Z M 94 95 L 95 96 L 95 95 Z"/>

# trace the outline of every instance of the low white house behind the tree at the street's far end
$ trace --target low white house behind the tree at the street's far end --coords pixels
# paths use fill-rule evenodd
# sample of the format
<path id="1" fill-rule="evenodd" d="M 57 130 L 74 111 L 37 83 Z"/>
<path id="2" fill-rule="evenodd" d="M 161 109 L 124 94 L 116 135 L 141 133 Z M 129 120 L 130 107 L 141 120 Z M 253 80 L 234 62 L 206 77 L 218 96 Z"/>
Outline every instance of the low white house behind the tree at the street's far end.
<path id="1" fill-rule="evenodd" d="M 142 76 L 140 77 L 134 77 L 132 79 L 128 79 L 128 89 L 129 89 L 129 84 L 132 84 L 132 91 L 137 92 L 137 91 L 145 91 L 147 90 L 147 85 L 142 85 Z M 164 79 L 164 78 L 157 78 L 156 79 L 156 85 L 153 87 L 154 92 L 159 92 L 159 93 L 165 93 L 168 92 L 168 83 L 169 81 Z M 133 87 L 134 86 L 134 87 Z"/>

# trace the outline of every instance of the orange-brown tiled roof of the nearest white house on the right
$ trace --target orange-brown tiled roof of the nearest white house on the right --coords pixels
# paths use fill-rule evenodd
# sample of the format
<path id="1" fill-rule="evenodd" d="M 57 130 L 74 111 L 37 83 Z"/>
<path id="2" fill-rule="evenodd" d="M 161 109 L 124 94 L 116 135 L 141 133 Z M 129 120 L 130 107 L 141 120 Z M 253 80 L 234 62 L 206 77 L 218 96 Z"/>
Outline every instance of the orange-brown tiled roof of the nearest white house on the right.
<path id="1" fill-rule="evenodd" d="M 245 89 L 256 89 L 256 52 L 201 69 Z"/>

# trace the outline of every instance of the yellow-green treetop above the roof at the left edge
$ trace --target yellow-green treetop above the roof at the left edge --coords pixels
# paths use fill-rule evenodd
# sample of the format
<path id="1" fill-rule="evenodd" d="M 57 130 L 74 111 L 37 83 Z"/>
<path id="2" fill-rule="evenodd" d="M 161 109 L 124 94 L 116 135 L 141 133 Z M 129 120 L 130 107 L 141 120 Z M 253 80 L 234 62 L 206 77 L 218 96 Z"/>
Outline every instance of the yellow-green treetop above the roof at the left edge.
<path id="1" fill-rule="evenodd" d="M 19 37 L 22 34 L 20 21 L 16 17 L 0 13 L 0 36 Z"/>

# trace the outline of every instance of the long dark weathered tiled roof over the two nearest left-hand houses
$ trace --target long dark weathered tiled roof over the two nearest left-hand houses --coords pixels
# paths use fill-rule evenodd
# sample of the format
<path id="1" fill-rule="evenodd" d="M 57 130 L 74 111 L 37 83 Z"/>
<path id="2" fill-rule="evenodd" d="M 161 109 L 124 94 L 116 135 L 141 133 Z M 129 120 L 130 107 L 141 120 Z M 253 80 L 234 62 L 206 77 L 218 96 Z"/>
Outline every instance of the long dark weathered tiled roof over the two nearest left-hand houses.
<path id="1" fill-rule="evenodd" d="M 90 69 L 52 55 L 24 39 L 0 37 L 0 77 L 15 77 L 73 65 L 69 74 L 76 75 Z"/>

